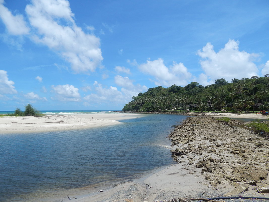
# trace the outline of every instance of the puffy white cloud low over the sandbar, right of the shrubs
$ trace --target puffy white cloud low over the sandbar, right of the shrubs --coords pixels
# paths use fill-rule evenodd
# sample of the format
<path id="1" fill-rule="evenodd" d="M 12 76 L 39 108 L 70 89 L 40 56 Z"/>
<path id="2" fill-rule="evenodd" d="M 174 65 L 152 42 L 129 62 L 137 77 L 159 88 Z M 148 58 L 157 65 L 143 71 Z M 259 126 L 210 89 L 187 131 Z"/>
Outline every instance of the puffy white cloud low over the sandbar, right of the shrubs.
<path id="1" fill-rule="evenodd" d="M 51 88 L 56 93 L 55 99 L 60 101 L 73 101 L 73 102 L 79 102 L 80 94 L 79 89 L 75 88 L 73 85 L 58 85 L 54 86 L 52 85 Z M 52 98 L 54 99 L 54 98 Z"/>

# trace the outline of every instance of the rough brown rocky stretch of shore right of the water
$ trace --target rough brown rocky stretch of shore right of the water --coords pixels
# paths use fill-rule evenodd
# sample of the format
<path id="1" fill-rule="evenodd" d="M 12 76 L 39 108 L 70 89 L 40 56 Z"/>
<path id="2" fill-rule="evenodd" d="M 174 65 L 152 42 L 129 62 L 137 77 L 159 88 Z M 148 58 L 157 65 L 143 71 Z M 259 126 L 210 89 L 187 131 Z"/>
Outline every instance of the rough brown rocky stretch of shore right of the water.
<path id="1" fill-rule="evenodd" d="M 269 140 L 214 117 L 188 117 L 169 137 L 174 160 L 200 172 L 212 187 L 247 184 L 257 192 L 269 187 Z M 268 188 L 269 189 L 269 188 Z"/>

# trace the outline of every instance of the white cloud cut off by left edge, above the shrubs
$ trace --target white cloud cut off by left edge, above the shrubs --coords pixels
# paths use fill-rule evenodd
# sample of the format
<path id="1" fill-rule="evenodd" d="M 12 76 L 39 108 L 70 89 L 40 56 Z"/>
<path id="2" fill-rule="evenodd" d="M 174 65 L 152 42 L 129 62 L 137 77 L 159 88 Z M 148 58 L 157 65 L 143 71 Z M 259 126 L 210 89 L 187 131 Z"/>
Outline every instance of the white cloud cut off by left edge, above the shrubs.
<path id="1" fill-rule="evenodd" d="M 0 93 L 1 94 L 15 94 L 17 90 L 13 86 L 15 83 L 8 80 L 8 74 L 5 70 L 0 70 Z"/>

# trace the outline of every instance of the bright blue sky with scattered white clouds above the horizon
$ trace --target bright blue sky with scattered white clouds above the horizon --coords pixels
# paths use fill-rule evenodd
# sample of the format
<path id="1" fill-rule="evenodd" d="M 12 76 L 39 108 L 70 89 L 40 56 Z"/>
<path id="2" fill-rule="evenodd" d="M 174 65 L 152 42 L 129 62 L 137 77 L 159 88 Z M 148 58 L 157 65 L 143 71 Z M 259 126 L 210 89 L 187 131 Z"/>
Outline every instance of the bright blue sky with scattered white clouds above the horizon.
<path id="1" fill-rule="evenodd" d="M 269 74 L 268 0 L 0 0 L 0 110 L 121 110 Z"/>

